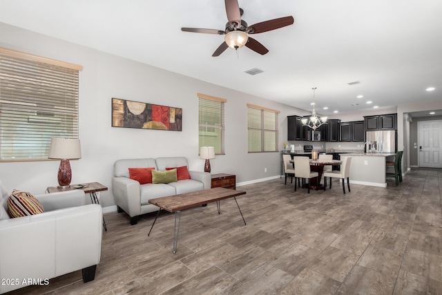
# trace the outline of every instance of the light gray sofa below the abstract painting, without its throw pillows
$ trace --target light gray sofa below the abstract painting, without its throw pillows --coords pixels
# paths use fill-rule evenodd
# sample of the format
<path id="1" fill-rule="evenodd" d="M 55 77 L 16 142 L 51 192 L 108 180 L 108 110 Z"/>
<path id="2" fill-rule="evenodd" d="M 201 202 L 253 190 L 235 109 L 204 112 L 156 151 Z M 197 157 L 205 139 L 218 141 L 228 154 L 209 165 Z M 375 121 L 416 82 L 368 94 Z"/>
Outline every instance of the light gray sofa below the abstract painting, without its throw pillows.
<path id="1" fill-rule="evenodd" d="M 117 160 L 114 164 L 112 189 L 118 212 L 126 212 L 131 217 L 131 225 L 136 225 L 138 216 L 158 211 L 158 207 L 148 201 L 153 198 L 173 196 L 180 193 L 190 193 L 211 188 L 210 173 L 189 171 L 191 179 L 177 182 L 140 184 L 129 178 L 129 168 L 155 167 L 155 170 L 165 170 L 169 167 L 187 166 L 184 157 L 142 158 Z"/>

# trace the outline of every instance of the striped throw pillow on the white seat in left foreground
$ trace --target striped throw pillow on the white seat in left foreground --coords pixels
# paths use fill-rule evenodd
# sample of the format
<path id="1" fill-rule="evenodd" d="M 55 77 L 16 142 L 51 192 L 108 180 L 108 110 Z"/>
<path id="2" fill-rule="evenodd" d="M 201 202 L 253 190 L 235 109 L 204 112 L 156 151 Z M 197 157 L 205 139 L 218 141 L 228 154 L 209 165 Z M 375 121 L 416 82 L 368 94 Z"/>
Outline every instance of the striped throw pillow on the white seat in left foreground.
<path id="1" fill-rule="evenodd" d="M 39 200 L 25 191 L 12 191 L 8 198 L 8 213 L 10 217 L 30 216 L 43 213 L 44 209 Z"/>

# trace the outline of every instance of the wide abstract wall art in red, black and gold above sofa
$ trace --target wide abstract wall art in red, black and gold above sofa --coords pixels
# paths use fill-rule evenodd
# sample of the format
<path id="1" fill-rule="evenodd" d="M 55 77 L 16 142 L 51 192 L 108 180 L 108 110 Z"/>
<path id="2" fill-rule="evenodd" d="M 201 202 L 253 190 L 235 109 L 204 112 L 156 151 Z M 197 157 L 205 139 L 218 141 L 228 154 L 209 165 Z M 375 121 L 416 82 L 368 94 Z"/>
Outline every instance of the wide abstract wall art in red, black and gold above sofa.
<path id="1" fill-rule="evenodd" d="M 113 98 L 112 126 L 181 131 L 182 108 Z"/>

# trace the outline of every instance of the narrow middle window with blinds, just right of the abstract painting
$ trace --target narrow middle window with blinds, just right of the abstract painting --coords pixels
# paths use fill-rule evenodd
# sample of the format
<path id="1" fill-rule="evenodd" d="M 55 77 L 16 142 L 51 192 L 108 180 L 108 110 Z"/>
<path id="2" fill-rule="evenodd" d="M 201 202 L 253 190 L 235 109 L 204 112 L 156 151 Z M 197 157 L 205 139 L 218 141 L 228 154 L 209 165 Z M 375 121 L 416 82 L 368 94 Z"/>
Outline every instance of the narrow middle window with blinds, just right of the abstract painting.
<path id="1" fill-rule="evenodd" d="M 224 154 L 224 104 L 226 99 L 198 93 L 199 149 L 214 146 L 216 155 Z"/>

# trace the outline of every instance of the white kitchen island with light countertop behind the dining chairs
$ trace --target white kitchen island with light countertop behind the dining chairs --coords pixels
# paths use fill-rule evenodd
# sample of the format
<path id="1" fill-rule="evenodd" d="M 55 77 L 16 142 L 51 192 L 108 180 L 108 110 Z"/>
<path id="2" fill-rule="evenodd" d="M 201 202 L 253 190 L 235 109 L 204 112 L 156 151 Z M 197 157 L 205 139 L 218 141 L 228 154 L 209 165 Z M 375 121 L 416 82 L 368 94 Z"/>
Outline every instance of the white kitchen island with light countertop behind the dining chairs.
<path id="1" fill-rule="evenodd" d="M 387 187 L 385 162 L 394 161 L 395 153 L 342 153 L 340 160 L 352 157 L 350 183 Z"/>

